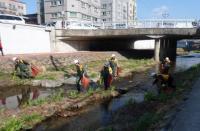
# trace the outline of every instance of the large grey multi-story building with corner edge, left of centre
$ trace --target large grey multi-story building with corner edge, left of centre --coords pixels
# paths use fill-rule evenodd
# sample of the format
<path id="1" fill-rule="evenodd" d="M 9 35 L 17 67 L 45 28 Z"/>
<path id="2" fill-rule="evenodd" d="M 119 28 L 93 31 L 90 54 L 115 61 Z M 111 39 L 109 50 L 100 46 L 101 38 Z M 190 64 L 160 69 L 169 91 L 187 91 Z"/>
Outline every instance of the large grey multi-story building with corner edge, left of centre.
<path id="1" fill-rule="evenodd" d="M 41 2 L 38 4 L 43 4 Z M 45 23 L 57 20 L 100 21 L 100 0 L 43 0 Z M 41 9 L 41 5 L 38 6 Z M 42 13 L 40 12 L 40 14 Z M 41 15 L 40 15 L 41 16 Z"/>

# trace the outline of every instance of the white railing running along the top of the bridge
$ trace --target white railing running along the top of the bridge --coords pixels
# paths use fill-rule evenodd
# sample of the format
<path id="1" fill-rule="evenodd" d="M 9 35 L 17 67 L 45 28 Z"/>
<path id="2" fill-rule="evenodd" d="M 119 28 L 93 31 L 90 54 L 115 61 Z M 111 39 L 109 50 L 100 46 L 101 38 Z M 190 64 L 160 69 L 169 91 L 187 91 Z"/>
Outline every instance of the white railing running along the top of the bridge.
<path id="1" fill-rule="evenodd" d="M 71 23 L 70 23 L 71 22 Z M 68 23 L 64 27 L 56 28 L 68 28 L 70 24 L 73 24 L 73 21 L 65 21 Z M 81 25 L 80 29 L 131 29 L 131 28 L 194 28 L 200 25 L 200 22 L 195 21 L 194 19 L 150 19 L 150 20 L 136 20 L 136 21 L 117 21 L 117 22 L 88 22 L 88 21 L 76 21 Z M 87 23 L 87 24 L 85 24 Z M 94 28 L 93 28 L 94 27 Z M 76 27 L 74 27 L 76 28 Z M 79 29 L 77 27 L 76 29 Z"/>

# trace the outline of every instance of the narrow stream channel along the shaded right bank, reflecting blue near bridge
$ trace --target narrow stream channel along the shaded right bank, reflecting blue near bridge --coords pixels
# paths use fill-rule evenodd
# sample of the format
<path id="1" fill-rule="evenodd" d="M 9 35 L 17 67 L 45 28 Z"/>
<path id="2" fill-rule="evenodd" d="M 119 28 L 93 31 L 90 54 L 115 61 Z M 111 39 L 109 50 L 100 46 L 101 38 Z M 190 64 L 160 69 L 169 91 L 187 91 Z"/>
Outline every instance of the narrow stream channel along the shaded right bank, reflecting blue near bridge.
<path id="1" fill-rule="evenodd" d="M 189 54 L 186 56 L 178 56 L 174 71 L 183 71 L 190 68 L 193 65 L 200 63 L 200 54 Z M 157 67 L 148 71 L 155 72 Z M 144 94 L 147 90 L 156 91 L 152 86 L 153 79 L 149 75 L 133 76 L 131 79 L 127 79 L 126 82 L 117 85 L 123 86 L 123 84 L 135 83 L 135 79 L 139 79 L 140 83 L 135 84 L 137 88 L 129 91 L 121 97 L 114 98 L 103 103 L 96 103 L 87 107 L 87 111 L 81 113 L 78 116 L 71 118 L 51 118 L 35 127 L 34 131 L 89 131 L 98 130 L 111 123 L 114 112 L 119 108 L 125 106 L 130 100 L 140 103 L 144 101 Z"/>

